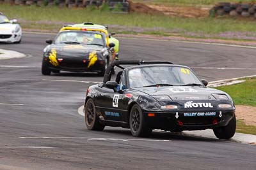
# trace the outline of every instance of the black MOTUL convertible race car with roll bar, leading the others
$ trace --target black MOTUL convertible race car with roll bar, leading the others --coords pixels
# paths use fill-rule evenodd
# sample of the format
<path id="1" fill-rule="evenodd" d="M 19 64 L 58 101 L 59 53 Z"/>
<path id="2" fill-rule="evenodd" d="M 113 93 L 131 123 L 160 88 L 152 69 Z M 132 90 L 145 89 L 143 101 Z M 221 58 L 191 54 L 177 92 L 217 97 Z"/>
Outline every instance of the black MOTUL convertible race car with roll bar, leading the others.
<path id="1" fill-rule="evenodd" d="M 124 68 L 122 64 L 137 66 Z M 111 81 L 115 66 L 124 71 Z M 236 131 L 234 103 L 227 93 L 206 85 L 189 67 L 172 62 L 112 62 L 103 83 L 86 92 L 86 127 L 96 131 L 106 125 L 125 127 L 137 137 L 148 136 L 152 129 L 213 129 L 217 138 L 232 138 Z"/>

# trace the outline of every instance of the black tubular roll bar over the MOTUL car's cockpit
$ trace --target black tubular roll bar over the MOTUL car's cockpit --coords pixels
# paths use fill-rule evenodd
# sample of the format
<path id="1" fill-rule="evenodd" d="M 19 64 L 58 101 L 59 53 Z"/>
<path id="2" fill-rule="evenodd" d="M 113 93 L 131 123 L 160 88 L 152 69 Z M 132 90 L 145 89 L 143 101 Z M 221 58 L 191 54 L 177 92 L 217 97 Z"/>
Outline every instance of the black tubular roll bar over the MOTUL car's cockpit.
<path id="1" fill-rule="evenodd" d="M 173 62 L 170 61 L 159 61 L 159 60 L 116 60 L 111 62 L 111 64 L 108 65 L 105 74 L 103 83 L 106 83 L 107 81 L 111 80 L 111 73 L 114 70 L 114 67 L 120 67 L 120 69 L 124 69 L 124 67 L 120 65 L 142 65 L 142 64 L 173 64 Z"/>

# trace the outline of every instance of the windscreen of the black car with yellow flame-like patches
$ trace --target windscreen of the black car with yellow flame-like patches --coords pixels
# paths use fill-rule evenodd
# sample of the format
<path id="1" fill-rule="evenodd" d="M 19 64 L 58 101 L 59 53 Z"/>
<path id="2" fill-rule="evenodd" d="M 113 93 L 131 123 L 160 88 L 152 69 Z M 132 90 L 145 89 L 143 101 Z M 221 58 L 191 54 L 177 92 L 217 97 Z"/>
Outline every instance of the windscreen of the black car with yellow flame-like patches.
<path id="1" fill-rule="evenodd" d="M 65 31 L 57 36 L 55 43 L 104 46 L 104 37 L 98 32 Z"/>

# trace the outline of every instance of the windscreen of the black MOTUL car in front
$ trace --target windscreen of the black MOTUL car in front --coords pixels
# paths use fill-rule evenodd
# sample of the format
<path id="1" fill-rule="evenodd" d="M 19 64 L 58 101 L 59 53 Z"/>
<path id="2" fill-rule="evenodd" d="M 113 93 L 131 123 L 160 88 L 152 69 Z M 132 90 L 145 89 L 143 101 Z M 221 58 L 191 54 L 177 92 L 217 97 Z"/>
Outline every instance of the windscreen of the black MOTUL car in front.
<path id="1" fill-rule="evenodd" d="M 130 88 L 155 85 L 202 85 L 190 69 L 178 66 L 138 67 L 129 70 L 128 77 Z"/>

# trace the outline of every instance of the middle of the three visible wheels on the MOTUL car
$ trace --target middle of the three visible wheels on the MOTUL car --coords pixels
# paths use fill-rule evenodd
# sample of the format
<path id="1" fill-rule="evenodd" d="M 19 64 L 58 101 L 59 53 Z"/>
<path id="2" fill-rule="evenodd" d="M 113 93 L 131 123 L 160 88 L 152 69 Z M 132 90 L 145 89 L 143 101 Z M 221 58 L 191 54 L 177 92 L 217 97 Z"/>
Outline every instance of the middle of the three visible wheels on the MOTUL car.
<path id="1" fill-rule="evenodd" d="M 147 126 L 141 108 L 138 104 L 134 104 L 132 106 L 129 124 L 132 136 L 147 137 L 150 136 L 152 132 L 152 129 Z"/>

